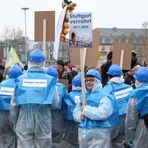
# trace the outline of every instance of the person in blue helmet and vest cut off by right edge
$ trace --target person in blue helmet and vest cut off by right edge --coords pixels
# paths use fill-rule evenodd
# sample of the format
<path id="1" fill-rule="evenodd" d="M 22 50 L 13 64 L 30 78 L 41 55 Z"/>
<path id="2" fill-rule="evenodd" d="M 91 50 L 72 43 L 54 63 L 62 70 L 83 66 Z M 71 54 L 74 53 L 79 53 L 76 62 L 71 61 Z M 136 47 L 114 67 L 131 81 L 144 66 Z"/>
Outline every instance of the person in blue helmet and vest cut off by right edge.
<path id="1" fill-rule="evenodd" d="M 125 120 L 126 144 L 148 148 L 148 68 L 135 73 L 136 89 L 130 94 Z"/>

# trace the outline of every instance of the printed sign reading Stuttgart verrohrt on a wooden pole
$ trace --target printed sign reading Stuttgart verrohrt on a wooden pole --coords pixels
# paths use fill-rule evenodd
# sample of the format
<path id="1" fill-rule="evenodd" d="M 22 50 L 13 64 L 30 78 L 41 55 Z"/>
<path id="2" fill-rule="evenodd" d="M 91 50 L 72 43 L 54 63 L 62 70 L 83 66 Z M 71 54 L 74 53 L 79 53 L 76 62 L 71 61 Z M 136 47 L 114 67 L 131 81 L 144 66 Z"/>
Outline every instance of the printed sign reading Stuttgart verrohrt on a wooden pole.
<path id="1" fill-rule="evenodd" d="M 92 13 L 69 14 L 69 46 L 92 48 Z"/>

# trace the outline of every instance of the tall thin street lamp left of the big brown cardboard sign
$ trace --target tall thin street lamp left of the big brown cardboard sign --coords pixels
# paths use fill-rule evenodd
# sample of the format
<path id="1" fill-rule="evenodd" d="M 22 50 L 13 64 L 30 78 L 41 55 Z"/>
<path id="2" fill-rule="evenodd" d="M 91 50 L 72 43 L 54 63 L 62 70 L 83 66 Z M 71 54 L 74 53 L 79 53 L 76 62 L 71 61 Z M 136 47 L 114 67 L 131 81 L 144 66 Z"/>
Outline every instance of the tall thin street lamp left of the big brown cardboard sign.
<path id="1" fill-rule="evenodd" d="M 26 21 L 26 11 L 29 10 L 29 8 L 24 7 L 21 8 L 22 10 L 24 10 L 24 16 L 25 16 L 25 54 L 26 54 L 26 64 L 27 64 L 27 59 L 28 59 L 28 54 L 27 54 L 27 21 Z"/>

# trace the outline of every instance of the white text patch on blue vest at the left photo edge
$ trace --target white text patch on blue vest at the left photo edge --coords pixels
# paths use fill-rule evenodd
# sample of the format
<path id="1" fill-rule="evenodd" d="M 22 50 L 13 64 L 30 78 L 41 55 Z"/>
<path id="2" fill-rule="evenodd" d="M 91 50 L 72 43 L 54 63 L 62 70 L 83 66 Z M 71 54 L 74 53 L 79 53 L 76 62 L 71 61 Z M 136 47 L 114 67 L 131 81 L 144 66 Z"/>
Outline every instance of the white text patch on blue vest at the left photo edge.
<path id="1" fill-rule="evenodd" d="M 14 88 L 12 88 L 12 87 L 1 87 L 0 88 L 0 95 L 12 96 L 13 93 L 14 93 Z"/>

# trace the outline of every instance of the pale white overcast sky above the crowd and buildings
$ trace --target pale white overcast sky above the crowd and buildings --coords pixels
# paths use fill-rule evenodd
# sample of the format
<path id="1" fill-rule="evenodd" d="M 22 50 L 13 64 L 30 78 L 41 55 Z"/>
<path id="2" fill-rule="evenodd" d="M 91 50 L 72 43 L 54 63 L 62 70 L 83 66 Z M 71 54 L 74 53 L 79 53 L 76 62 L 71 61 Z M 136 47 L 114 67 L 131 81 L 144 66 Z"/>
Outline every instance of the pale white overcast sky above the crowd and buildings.
<path id="1" fill-rule="evenodd" d="M 142 28 L 148 22 L 148 0 L 72 0 L 74 12 L 92 12 L 93 28 Z M 34 39 L 34 12 L 55 10 L 56 22 L 62 10 L 62 0 L 1 0 L 0 35 L 4 27 L 20 27 L 24 31 L 22 7 L 27 10 L 27 35 Z"/>

